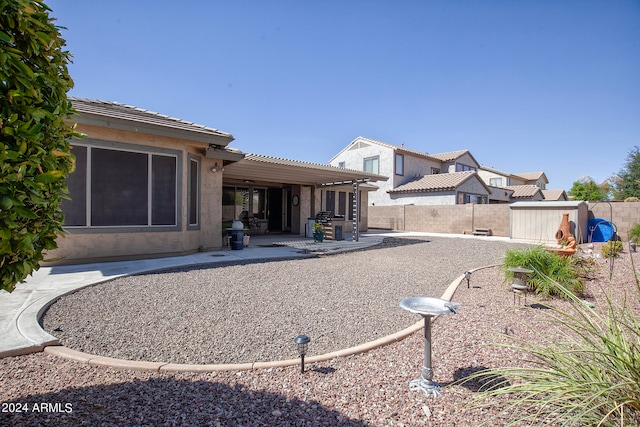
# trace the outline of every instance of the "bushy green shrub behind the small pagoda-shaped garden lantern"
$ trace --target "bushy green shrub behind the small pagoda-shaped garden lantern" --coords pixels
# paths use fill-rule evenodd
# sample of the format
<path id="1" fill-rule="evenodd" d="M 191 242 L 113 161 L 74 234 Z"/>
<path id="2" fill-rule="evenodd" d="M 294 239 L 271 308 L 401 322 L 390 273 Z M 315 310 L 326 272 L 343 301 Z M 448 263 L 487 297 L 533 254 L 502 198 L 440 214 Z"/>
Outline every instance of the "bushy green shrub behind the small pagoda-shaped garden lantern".
<path id="1" fill-rule="evenodd" d="M 542 246 L 508 250 L 502 264 L 505 283 L 513 280 L 509 268 L 523 267 L 533 270 L 529 275 L 529 287 L 542 297 L 566 297 L 567 289 L 580 293 L 584 289 L 583 279 L 571 258 L 549 252 Z"/>

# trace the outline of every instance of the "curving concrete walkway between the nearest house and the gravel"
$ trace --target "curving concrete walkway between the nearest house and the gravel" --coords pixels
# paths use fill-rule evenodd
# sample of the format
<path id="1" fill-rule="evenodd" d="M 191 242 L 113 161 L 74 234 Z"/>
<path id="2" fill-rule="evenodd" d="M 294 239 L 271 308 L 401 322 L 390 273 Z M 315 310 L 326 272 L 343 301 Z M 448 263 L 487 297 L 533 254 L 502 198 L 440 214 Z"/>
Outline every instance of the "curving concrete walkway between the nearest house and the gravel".
<path id="1" fill-rule="evenodd" d="M 105 262 L 41 267 L 12 293 L 0 291 L 0 358 L 42 351 L 58 345 L 45 332 L 39 319 L 56 299 L 77 289 L 116 277 L 171 267 L 241 262 L 245 260 L 288 259 L 351 251 L 374 246 L 394 233 L 363 233 L 358 242 L 325 241 L 287 235 L 252 236 L 243 250 L 225 248 L 186 256 L 135 261 Z"/>

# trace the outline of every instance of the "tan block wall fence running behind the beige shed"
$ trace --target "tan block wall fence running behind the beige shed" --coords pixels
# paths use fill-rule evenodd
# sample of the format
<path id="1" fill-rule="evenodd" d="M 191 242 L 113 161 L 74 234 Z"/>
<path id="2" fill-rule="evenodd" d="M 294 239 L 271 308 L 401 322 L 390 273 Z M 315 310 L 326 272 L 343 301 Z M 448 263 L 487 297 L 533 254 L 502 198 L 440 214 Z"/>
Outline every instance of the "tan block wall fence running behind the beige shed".
<path id="1" fill-rule="evenodd" d="M 640 222 L 640 202 L 594 202 L 588 203 L 588 208 L 589 219 L 612 222 L 624 241 L 629 228 Z M 510 232 L 508 204 L 369 206 L 368 210 L 369 228 L 445 234 L 490 228 L 494 236 L 502 237 L 509 237 Z"/>

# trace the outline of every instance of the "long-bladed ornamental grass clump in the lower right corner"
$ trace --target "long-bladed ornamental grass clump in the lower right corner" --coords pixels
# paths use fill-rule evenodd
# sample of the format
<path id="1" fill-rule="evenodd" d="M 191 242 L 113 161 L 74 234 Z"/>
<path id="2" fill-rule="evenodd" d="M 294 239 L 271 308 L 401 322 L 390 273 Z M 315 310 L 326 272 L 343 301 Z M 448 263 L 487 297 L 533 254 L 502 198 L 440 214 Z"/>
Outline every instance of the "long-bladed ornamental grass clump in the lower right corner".
<path id="1" fill-rule="evenodd" d="M 637 276 L 636 286 L 640 296 Z M 566 330 L 566 341 L 539 344 L 513 338 L 504 344 L 525 352 L 533 365 L 487 369 L 466 378 L 504 378 L 481 390 L 475 405 L 495 405 L 495 398 L 506 397 L 494 418 L 506 417 L 507 425 L 640 425 L 640 318 L 610 299 L 605 313 L 598 313 L 568 289 L 566 293 L 572 308 L 550 308 L 549 317 L 553 327 Z"/>

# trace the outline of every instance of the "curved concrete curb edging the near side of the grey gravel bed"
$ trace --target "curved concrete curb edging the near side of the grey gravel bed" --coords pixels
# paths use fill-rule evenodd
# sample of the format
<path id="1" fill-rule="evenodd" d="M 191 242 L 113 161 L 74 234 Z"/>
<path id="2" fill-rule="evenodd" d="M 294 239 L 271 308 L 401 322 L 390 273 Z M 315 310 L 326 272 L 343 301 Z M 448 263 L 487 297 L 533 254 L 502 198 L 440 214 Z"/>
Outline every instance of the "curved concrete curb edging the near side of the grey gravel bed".
<path id="1" fill-rule="evenodd" d="M 482 270 L 485 268 L 494 267 L 495 265 L 488 265 L 485 267 L 478 267 L 470 272 Z M 462 274 L 457 277 L 453 282 L 449 284 L 442 299 L 451 300 L 455 294 L 458 286 L 464 280 L 465 276 Z M 437 317 L 436 317 L 437 318 Z M 432 322 L 436 319 L 434 318 Z M 382 338 L 378 338 L 374 341 L 369 341 L 364 344 L 359 344 L 354 347 L 349 347 L 344 350 L 332 351 L 330 353 L 320 354 L 317 356 L 311 356 L 306 358 L 306 363 L 318 363 L 326 362 L 337 357 L 347 357 L 356 354 L 366 353 L 367 351 L 384 347 L 397 341 L 402 341 L 414 332 L 419 331 L 424 326 L 424 321 L 421 319 L 408 328 L 395 332 L 390 335 L 386 335 Z M 273 362 L 248 362 L 237 364 L 211 364 L 211 365 L 197 365 L 197 364 L 182 364 L 182 363 L 167 363 L 167 362 L 145 362 L 138 360 L 125 360 L 115 359 L 106 356 L 97 356 L 94 354 L 84 353 L 82 351 L 73 350 L 71 348 L 61 345 L 49 345 L 45 346 L 45 353 L 58 356 L 64 359 L 74 360 L 76 362 L 83 363 L 90 366 L 102 366 L 114 369 L 133 370 L 133 371 L 155 371 L 155 372 L 221 372 L 221 371 L 250 371 L 255 369 L 270 369 L 270 368 L 284 368 L 288 366 L 295 366 L 300 364 L 300 359 L 287 359 L 277 360 Z"/>

